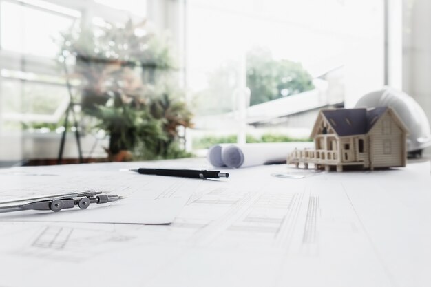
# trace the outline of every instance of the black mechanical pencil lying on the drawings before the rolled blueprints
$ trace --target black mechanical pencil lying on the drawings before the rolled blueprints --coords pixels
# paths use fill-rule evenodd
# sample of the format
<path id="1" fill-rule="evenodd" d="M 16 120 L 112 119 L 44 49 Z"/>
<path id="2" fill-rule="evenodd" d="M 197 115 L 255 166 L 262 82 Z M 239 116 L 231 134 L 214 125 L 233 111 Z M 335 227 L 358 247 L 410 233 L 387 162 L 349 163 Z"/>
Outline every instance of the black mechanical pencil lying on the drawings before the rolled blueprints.
<path id="1" fill-rule="evenodd" d="M 130 169 L 141 174 L 156 176 L 178 176 L 180 178 L 229 178 L 229 173 L 220 171 L 198 171 L 193 169 Z"/>

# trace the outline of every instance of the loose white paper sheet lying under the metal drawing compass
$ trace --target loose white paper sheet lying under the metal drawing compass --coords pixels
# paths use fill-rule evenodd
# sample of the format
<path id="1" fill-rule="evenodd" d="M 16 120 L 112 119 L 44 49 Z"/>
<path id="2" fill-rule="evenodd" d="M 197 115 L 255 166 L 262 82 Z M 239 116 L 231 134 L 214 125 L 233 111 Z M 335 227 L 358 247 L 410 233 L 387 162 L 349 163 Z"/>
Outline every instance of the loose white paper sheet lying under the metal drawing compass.
<path id="1" fill-rule="evenodd" d="M 130 165 L 130 164 L 129 164 Z M 118 164 L 20 167 L 0 171 L 2 200 L 75 191 L 103 191 L 126 198 L 109 204 L 90 204 L 85 210 L 17 211 L 0 213 L 0 220 L 168 224 L 174 221 L 199 181 L 143 176 L 120 171 Z"/>

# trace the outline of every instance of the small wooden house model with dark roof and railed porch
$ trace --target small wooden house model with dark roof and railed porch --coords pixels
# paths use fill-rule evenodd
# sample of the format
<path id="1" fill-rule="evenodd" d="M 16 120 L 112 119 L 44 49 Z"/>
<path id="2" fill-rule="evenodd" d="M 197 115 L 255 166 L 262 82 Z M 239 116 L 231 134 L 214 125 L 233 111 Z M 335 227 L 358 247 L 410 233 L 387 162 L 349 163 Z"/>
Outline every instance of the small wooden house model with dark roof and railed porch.
<path id="1" fill-rule="evenodd" d="M 315 169 L 346 166 L 360 169 L 405 167 L 406 126 L 390 107 L 324 109 L 311 133 L 315 150 L 295 150 L 288 164 L 315 164 Z"/>

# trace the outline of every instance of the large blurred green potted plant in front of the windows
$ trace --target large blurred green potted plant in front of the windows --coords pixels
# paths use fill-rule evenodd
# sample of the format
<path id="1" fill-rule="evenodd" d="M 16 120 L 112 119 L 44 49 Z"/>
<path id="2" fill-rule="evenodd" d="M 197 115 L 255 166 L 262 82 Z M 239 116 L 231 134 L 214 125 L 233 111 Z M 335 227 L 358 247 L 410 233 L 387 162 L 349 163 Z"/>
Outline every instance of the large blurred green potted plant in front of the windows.
<path id="1" fill-rule="evenodd" d="M 149 32 L 145 22 L 107 23 L 61 35 L 61 59 L 72 60 L 83 113 L 109 134 L 112 160 L 189 156 L 179 147 L 180 127 L 192 114 L 174 85 L 171 46 Z M 124 153 L 127 156 L 124 156 Z"/>

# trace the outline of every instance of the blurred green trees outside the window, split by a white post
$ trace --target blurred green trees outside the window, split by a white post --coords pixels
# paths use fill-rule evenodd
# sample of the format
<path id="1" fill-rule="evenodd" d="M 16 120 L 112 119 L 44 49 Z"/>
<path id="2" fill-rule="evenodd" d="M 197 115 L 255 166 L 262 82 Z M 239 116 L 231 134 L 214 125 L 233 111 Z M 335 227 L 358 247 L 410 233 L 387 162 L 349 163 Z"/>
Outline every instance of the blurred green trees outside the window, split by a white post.
<path id="1" fill-rule="evenodd" d="M 232 111 L 233 94 L 238 83 L 237 61 L 222 63 L 207 73 L 207 88 L 196 92 L 196 114 L 222 114 Z M 250 105 L 292 96 L 314 89 L 313 78 L 301 63 L 275 60 L 265 48 L 253 48 L 246 54 L 246 85 L 251 91 Z"/>

